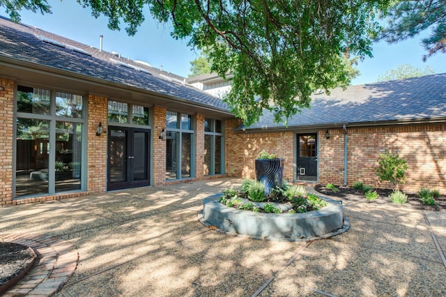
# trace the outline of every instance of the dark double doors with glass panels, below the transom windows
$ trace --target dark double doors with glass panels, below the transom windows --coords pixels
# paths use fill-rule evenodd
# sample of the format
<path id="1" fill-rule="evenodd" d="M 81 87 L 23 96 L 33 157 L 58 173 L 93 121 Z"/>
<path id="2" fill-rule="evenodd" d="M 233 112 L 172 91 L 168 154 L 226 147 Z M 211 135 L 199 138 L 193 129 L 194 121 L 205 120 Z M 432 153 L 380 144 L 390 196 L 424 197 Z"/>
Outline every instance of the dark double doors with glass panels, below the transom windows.
<path id="1" fill-rule="evenodd" d="M 108 128 L 107 190 L 149 185 L 150 130 Z"/>

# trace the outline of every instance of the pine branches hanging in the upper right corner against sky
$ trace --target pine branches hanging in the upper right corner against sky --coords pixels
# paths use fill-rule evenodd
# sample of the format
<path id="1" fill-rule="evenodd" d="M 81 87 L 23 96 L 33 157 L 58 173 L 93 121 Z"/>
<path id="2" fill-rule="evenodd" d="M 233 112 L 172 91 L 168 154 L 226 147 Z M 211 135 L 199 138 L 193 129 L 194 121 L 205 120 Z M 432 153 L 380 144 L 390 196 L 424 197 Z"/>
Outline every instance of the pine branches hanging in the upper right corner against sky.
<path id="1" fill-rule="evenodd" d="M 387 42 L 397 43 L 430 28 L 429 36 L 422 39 L 427 51 L 423 60 L 446 52 L 446 0 L 393 1 L 382 17 L 387 24 L 380 38 Z"/>

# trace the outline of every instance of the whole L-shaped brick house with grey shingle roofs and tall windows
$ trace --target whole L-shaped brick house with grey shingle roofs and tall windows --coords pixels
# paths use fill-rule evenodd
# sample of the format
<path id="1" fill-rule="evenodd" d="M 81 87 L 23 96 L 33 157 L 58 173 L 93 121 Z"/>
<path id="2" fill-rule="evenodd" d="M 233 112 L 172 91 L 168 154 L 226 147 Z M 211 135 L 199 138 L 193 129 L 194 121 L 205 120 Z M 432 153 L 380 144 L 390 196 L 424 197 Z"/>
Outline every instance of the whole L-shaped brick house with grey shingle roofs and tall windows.
<path id="1" fill-rule="evenodd" d="M 445 74 L 315 94 L 286 127 L 266 114 L 247 128 L 178 75 L 3 17 L 0 32 L 1 206 L 252 178 L 263 149 L 289 181 L 339 185 L 376 185 L 390 149 L 408 160 L 405 190 L 446 192 Z"/>

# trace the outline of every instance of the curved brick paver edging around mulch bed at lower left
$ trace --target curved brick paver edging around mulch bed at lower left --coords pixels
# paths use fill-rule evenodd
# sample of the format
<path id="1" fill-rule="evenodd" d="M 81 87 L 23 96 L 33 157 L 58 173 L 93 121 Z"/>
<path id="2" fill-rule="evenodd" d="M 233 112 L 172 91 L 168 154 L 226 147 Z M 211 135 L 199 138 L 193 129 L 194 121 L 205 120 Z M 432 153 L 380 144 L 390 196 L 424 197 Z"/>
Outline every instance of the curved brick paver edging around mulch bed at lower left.
<path id="1" fill-rule="evenodd" d="M 29 246 L 38 255 L 31 271 L 4 296 L 51 296 L 76 270 L 79 254 L 75 247 L 54 236 L 0 234 L 0 241 Z"/>

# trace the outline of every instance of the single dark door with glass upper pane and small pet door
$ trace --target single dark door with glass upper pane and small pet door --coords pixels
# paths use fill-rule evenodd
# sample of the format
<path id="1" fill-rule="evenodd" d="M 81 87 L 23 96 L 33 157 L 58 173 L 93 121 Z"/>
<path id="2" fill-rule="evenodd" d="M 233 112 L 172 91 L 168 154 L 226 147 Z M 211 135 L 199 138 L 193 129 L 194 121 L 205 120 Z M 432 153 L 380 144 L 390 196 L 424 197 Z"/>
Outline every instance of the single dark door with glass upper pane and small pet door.
<path id="1" fill-rule="evenodd" d="M 317 181 L 318 178 L 318 150 L 317 135 L 298 135 L 298 174 L 300 181 Z"/>

